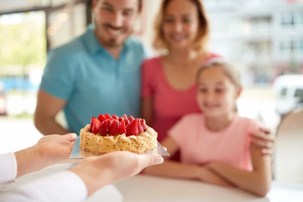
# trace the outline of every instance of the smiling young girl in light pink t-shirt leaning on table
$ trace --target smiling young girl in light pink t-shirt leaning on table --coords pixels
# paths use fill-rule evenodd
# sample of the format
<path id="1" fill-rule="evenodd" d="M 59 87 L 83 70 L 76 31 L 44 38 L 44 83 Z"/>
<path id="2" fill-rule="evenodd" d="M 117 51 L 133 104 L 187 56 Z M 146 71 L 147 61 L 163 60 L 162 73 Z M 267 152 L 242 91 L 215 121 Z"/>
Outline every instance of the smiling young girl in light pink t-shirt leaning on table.
<path id="1" fill-rule="evenodd" d="M 165 161 L 145 173 L 232 185 L 265 196 L 271 184 L 271 157 L 251 144 L 249 134 L 259 130 L 259 124 L 233 110 L 242 90 L 239 73 L 225 62 L 212 61 L 198 71 L 197 85 L 203 113 L 182 117 L 162 142 L 171 155 L 181 150 L 182 164 Z"/>

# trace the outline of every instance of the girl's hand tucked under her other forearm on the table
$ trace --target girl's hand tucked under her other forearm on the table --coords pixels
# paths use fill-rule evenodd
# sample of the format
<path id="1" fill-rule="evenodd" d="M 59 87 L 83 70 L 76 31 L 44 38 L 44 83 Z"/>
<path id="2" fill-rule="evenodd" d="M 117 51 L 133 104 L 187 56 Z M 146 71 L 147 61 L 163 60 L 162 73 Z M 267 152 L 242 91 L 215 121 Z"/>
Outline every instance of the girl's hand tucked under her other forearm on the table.
<path id="1" fill-rule="evenodd" d="M 209 183 L 209 184 L 216 184 L 219 186 L 233 186 L 231 183 L 223 179 L 221 176 L 213 172 L 208 166 L 203 166 L 200 168 L 198 179 Z"/>

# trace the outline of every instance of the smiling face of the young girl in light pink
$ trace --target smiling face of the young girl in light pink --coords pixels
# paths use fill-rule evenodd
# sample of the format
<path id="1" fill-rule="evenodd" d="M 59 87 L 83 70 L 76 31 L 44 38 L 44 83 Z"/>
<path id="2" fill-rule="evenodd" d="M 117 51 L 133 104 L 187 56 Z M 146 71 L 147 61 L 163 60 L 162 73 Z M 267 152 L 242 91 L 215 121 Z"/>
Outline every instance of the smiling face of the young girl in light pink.
<path id="1" fill-rule="evenodd" d="M 240 92 L 241 89 L 225 75 L 222 67 L 206 69 L 198 77 L 197 102 L 206 116 L 232 113 Z"/>

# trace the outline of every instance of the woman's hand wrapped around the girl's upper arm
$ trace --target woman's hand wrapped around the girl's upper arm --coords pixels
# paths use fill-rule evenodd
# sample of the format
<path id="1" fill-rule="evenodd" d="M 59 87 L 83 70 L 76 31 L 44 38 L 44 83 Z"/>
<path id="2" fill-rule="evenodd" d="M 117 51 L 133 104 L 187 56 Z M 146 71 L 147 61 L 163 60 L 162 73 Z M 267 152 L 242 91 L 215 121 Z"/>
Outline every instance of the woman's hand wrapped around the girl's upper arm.
<path id="1" fill-rule="evenodd" d="M 253 132 L 250 135 L 251 142 L 256 146 L 263 148 L 263 154 L 273 155 L 276 137 L 268 128 L 260 127 L 260 130 Z"/>

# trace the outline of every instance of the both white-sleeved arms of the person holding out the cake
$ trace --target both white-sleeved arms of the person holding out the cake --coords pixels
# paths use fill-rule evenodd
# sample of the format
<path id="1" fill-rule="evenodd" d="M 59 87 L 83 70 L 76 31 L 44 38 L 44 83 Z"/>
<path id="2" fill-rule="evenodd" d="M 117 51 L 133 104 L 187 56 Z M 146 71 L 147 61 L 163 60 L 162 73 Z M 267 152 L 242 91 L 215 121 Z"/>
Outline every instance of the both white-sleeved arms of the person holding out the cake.
<path id="1" fill-rule="evenodd" d="M 0 155 L 0 184 L 64 163 L 77 135 L 48 135 L 32 147 Z M 160 155 L 116 151 L 82 160 L 67 171 L 29 182 L 0 193 L 0 201 L 84 201 L 98 189 L 138 174 L 143 168 L 163 163 Z"/>

